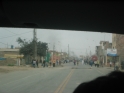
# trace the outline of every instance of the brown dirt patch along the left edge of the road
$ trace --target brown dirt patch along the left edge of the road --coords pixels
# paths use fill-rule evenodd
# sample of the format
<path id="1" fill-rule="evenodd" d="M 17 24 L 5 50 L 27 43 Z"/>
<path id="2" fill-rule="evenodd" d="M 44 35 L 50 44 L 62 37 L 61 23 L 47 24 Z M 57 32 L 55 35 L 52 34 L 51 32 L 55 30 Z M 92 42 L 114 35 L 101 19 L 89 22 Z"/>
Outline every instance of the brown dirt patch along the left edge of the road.
<path id="1" fill-rule="evenodd" d="M 23 71 L 23 70 L 29 70 L 32 69 L 31 67 L 26 67 L 26 66 L 0 66 L 0 73 L 9 73 L 12 71 Z"/>

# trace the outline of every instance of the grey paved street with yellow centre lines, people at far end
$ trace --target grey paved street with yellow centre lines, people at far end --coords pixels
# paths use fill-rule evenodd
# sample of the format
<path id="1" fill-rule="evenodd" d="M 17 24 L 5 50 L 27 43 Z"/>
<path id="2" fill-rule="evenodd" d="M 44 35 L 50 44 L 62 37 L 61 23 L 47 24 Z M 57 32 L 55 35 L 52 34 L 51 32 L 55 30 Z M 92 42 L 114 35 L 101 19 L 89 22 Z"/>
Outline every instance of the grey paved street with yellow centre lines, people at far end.
<path id="1" fill-rule="evenodd" d="M 82 82 L 106 75 L 113 68 L 74 66 L 65 63 L 64 67 L 32 68 L 25 71 L 0 73 L 0 93 L 72 93 Z"/>

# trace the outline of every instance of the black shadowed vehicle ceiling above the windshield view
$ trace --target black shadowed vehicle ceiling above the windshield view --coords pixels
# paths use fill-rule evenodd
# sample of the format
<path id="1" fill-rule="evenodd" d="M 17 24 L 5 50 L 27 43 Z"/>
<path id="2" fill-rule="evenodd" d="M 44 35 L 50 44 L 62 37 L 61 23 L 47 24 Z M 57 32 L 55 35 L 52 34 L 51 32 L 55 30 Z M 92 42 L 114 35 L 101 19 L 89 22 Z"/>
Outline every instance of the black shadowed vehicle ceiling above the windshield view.
<path id="1" fill-rule="evenodd" d="M 123 10 L 124 4 L 114 1 L 71 3 L 5 0 L 0 1 L 0 27 L 123 34 Z"/>

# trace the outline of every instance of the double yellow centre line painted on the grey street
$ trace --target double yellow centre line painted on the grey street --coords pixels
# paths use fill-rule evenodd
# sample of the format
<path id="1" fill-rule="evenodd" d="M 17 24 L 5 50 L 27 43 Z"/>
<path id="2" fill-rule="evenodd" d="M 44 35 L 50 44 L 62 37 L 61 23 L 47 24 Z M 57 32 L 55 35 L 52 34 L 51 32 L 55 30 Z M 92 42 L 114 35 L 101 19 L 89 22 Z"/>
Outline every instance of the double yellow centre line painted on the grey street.
<path id="1" fill-rule="evenodd" d="M 62 93 L 65 86 L 67 85 L 68 81 L 70 80 L 72 74 L 74 72 L 74 69 L 71 70 L 71 72 L 68 74 L 68 76 L 64 79 L 64 81 L 59 85 L 57 90 L 54 93 Z"/>

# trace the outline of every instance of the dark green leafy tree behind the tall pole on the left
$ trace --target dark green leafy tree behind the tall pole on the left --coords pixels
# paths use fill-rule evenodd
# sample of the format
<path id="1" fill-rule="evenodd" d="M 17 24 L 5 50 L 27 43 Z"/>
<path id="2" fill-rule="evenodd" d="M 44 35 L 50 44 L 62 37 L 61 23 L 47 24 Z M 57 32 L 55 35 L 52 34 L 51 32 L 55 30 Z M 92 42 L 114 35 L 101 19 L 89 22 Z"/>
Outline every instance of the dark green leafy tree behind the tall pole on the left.
<path id="1" fill-rule="evenodd" d="M 18 44 L 20 44 L 20 54 L 23 54 L 24 57 L 33 56 L 34 54 L 34 40 L 26 41 L 20 37 L 17 39 Z M 46 56 L 46 50 L 48 50 L 48 44 L 42 43 L 41 41 L 37 42 L 37 55 Z"/>

